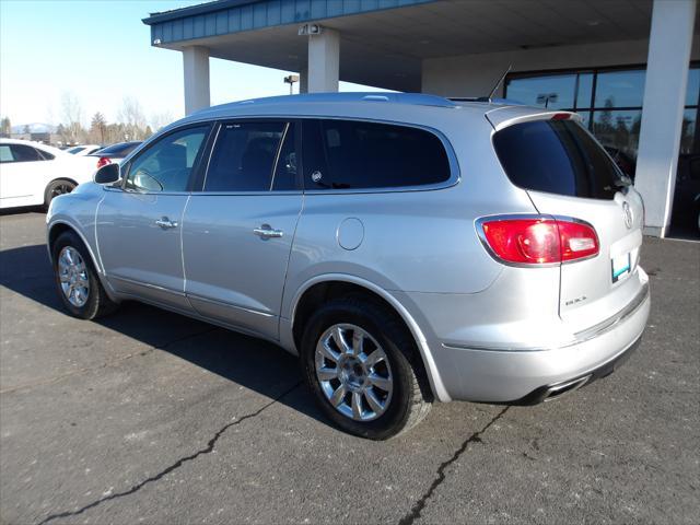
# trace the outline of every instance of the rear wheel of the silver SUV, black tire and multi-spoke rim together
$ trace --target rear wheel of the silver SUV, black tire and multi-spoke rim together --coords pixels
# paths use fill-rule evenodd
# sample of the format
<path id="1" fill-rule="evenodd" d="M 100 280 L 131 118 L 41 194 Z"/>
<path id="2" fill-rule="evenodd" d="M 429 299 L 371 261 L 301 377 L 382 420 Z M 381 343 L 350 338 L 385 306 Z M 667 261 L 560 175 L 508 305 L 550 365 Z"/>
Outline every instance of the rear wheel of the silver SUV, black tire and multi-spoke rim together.
<path id="1" fill-rule="evenodd" d="M 338 352 L 338 328 L 347 343 L 345 353 Z M 355 337 L 363 341 L 358 357 Z M 371 364 L 377 348 L 385 359 Z M 304 378 L 320 409 L 348 433 L 387 440 L 418 424 L 430 410 L 432 395 L 422 378 L 416 342 L 398 316 L 381 304 L 353 296 L 328 302 L 306 323 L 300 357 Z M 322 381 L 317 369 L 328 381 Z M 338 408 L 332 399 L 340 399 Z"/>

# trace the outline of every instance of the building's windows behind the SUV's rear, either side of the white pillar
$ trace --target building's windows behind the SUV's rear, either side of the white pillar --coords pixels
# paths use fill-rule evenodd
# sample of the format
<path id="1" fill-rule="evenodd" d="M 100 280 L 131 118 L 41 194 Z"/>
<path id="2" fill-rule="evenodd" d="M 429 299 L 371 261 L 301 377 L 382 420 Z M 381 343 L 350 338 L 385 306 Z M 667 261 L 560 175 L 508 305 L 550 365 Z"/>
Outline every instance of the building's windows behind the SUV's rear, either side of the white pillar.
<path id="1" fill-rule="evenodd" d="M 634 173 L 646 71 L 585 69 L 557 73 L 516 73 L 505 81 L 506 98 L 530 106 L 581 114 L 588 128 L 626 171 Z M 680 154 L 700 153 L 696 122 L 700 63 L 691 63 L 680 139 Z"/>

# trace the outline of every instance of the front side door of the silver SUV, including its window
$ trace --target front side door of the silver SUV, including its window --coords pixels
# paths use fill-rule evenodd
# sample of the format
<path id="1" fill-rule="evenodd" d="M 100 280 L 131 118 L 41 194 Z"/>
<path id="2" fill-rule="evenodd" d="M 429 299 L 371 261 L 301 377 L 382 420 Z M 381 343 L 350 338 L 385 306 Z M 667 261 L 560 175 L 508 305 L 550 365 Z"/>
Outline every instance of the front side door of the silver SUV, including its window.
<path id="1" fill-rule="evenodd" d="M 118 292 L 191 311 L 183 273 L 183 212 L 209 130 L 209 125 L 190 126 L 161 137 L 121 167 L 121 187 L 104 188 L 97 245 Z"/>

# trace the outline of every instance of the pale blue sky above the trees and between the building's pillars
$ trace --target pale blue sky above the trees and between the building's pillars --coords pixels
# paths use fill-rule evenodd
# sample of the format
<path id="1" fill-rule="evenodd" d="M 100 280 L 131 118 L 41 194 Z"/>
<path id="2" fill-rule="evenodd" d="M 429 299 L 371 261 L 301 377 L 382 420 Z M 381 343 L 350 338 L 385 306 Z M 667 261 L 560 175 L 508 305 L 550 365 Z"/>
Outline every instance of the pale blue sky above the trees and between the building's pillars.
<path id="1" fill-rule="evenodd" d="M 59 124 L 65 93 L 117 118 L 126 96 L 147 119 L 184 115 L 182 54 L 150 45 L 149 13 L 202 0 L 0 0 L 0 116 L 12 125 Z M 210 59 L 211 103 L 283 95 L 287 71 Z M 361 90 L 341 82 L 342 91 Z"/>

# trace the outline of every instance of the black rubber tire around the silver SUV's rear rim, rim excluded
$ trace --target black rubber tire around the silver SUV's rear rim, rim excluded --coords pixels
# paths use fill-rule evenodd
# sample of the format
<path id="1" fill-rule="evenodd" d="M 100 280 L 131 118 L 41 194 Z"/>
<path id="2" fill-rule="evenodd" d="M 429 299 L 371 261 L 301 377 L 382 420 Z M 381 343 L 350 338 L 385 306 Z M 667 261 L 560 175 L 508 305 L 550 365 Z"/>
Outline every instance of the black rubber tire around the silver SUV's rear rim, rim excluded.
<path id="1" fill-rule="evenodd" d="M 316 377 L 316 343 L 326 329 L 336 324 L 352 324 L 368 331 L 388 358 L 394 389 L 387 410 L 378 418 L 361 422 L 350 419 L 330 405 Z M 399 346 L 408 341 L 393 319 L 374 305 L 359 305 L 352 301 L 334 301 L 323 306 L 308 320 L 302 337 L 301 362 L 304 378 L 324 413 L 340 429 L 371 440 L 384 440 L 397 434 L 406 425 L 412 401 L 413 373 Z"/>

